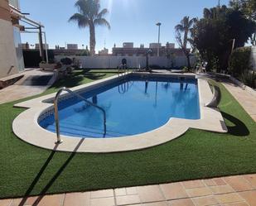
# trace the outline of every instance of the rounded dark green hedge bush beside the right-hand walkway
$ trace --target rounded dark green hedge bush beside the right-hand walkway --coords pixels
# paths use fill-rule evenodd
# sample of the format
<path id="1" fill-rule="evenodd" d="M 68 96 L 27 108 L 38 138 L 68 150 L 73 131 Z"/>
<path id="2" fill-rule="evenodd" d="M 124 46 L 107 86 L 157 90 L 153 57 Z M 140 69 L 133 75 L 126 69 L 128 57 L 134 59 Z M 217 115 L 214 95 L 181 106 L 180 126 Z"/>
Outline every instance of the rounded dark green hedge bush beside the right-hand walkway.
<path id="1" fill-rule="evenodd" d="M 234 77 L 240 77 L 245 70 L 251 69 L 250 55 L 251 47 L 240 47 L 232 52 L 229 58 L 229 71 Z"/>

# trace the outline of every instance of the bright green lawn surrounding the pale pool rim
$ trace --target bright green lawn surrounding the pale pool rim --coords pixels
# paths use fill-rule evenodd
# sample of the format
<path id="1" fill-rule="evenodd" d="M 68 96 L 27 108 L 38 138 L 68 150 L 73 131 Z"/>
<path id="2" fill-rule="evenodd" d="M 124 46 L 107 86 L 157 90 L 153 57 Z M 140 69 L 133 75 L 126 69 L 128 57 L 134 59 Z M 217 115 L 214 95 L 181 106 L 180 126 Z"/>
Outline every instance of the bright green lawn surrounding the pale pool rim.
<path id="1" fill-rule="evenodd" d="M 110 75 L 76 71 L 46 93 Z M 0 198 L 256 173 L 256 124 L 221 84 L 220 89 L 228 134 L 190 129 L 161 146 L 113 154 L 54 152 L 31 146 L 12 133 L 12 121 L 24 109 L 2 104 Z"/>

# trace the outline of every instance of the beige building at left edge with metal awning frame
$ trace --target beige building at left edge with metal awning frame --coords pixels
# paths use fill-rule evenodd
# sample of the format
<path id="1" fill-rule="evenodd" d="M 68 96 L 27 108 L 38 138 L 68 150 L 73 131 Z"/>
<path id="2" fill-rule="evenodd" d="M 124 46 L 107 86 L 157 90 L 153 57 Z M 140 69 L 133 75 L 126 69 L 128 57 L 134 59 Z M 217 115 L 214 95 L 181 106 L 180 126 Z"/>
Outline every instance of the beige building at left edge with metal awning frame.
<path id="1" fill-rule="evenodd" d="M 20 20 L 34 26 L 42 45 L 43 26 L 22 14 L 18 0 L 0 0 L 0 78 L 24 70 L 21 32 L 26 32 L 26 28 Z"/>

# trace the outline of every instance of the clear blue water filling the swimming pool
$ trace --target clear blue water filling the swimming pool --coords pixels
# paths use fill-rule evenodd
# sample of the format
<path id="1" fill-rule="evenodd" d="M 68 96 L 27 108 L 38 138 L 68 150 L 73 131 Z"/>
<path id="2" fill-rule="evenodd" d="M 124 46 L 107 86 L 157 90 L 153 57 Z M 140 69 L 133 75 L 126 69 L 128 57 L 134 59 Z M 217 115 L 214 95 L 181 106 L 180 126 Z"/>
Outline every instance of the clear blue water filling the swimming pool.
<path id="1" fill-rule="evenodd" d="M 196 79 L 133 77 L 81 95 L 106 111 L 106 135 L 103 113 L 78 98 L 59 103 L 62 135 L 123 137 L 161 127 L 170 117 L 200 118 Z M 39 124 L 48 131 L 56 132 L 54 115 Z"/>

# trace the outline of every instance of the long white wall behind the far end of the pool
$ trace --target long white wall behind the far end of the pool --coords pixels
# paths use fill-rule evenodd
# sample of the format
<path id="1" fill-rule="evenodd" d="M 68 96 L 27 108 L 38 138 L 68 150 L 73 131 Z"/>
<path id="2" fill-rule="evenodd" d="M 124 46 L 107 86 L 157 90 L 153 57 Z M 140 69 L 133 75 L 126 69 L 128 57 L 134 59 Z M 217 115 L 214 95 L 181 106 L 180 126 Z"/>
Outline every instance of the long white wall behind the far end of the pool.
<path id="1" fill-rule="evenodd" d="M 65 56 L 56 55 L 56 61 L 60 61 Z M 70 59 L 80 60 L 84 68 L 88 69 L 111 69 L 121 65 L 122 60 L 127 60 L 129 68 L 146 67 L 146 56 L 68 56 Z M 191 57 L 191 65 L 195 64 L 196 57 Z M 187 65 L 185 56 L 176 56 L 175 60 L 167 59 L 162 56 L 150 56 L 148 65 L 158 65 L 164 68 L 181 67 Z"/>

